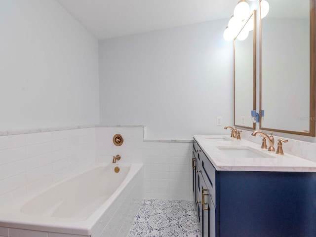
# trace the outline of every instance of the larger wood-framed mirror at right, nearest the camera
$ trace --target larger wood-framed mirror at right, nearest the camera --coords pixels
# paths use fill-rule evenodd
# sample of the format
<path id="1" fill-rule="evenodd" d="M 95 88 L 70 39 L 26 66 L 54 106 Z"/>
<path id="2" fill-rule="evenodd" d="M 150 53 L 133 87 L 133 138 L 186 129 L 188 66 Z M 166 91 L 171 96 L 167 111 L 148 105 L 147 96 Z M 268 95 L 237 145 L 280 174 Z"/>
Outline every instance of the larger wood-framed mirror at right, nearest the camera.
<path id="1" fill-rule="evenodd" d="M 260 129 L 315 136 L 315 0 L 268 2 L 260 27 Z"/>

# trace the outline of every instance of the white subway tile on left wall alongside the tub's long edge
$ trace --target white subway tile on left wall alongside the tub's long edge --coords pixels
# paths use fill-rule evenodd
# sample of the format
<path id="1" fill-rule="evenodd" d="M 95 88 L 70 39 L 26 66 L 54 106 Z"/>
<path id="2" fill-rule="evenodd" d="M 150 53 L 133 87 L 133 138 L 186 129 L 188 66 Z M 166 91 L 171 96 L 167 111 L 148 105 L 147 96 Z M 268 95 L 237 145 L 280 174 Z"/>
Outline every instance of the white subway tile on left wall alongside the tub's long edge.
<path id="1" fill-rule="evenodd" d="M 16 135 L 7 135 L 13 133 Z M 1 134 L 0 207 L 95 161 L 94 127 L 8 131 Z"/>

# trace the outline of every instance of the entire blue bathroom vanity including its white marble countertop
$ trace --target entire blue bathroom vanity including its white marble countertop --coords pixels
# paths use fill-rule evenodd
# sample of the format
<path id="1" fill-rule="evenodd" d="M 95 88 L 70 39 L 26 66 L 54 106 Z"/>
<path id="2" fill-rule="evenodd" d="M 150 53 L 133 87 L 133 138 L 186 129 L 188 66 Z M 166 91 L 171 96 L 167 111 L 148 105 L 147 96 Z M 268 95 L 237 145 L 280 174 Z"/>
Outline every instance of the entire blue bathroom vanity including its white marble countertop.
<path id="1" fill-rule="evenodd" d="M 315 237 L 316 163 L 226 136 L 195 135 L 202 237 Z"/>

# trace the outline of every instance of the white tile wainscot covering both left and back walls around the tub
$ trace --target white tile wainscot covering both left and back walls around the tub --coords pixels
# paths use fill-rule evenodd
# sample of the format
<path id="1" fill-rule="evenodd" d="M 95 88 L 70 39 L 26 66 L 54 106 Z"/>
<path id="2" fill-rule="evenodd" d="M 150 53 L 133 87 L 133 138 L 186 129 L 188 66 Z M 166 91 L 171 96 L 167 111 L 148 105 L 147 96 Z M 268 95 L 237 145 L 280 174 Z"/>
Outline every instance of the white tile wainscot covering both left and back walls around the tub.
<path id="1" fill-rule="evenodd" d="M 96 125 L 0 132 L 0 207 L 94 161 L 145 164 L 145 197 L 193 200 L 191 140 L 144 140 L 143 125 Z M 124 143 L 114 146 L 113 135 Z"/>

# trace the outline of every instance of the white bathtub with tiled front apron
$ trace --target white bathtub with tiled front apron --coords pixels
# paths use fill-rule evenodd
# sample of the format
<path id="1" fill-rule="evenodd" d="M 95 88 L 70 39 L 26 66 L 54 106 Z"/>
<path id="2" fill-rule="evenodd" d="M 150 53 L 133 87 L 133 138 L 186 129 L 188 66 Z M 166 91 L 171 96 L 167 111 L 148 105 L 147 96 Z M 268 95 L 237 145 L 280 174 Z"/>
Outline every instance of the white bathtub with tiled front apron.
<path id="1" fill-rule="evenodd" d="M 143 199 L 142 166 L 94 163 L 2 208 L 0 236 L 125 237 Z"/>

